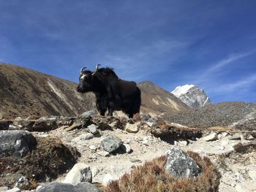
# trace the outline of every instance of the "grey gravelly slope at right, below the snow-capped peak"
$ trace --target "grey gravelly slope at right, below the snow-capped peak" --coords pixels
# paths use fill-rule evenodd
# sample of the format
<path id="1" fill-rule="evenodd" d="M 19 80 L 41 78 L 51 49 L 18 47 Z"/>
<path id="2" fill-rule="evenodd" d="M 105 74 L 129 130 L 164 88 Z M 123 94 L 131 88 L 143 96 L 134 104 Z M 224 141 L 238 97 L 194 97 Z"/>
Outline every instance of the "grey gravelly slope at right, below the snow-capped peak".
<path id="1" fill-rule="evenodd" d="M 223 102 L 200 107 L 196 110 L 163 115 L 165 120 L 184 126 L 228 126 L 236 129 L 256 129 L 256 103 Z"/>

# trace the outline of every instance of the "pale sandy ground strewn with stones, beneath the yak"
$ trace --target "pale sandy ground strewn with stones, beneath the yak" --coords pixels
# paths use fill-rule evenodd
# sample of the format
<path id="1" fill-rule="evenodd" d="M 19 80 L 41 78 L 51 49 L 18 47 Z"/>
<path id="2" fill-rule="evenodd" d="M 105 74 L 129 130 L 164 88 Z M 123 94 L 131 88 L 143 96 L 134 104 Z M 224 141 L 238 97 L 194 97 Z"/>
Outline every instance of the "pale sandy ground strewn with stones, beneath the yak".
<path id="1" fill-rule="evenodd" d="M 149 118 L 147 115 L 143 115 L 141 120 L 139 119 L 138 117 L 134 120 L 118 117 L 102 118 L 92 111 L 84 113 L 79 118 L 1 120 L 0 130 L 23 129 L 30 131 L 37 138 L 39 143 L 37 145 L 41 145 L 40 139 L 55 139 L 58 145 L 49 148 L 51 153 L 56 154 L 58 158 L 61 153 L 70 153 L 72 158 L 76 159 L 76 163 L 87 164 L 92 175 L 92 179 L 88 181 L 94 186 L 106 185 L 110 180 L 116 180 L 122 174 L 131 172 L 135 166 L 164 155 L 173 147 L 178 147 L 184 151 L 190 150 L 199 153 L 201 157 L 210 158 L 221 174 L 219 191 L 256 191 L 255 131 L 240 131 L 224 127 L 195 129 L 187 127 L 188 124 L 181 126 L 176 124 L 180 122 L 171 123 L 162 118 Z M 54 143 L 53 140 L 51 142 Z M 112 142 L 111 146 L 109 142 Z M 63 149 L 62 144 L 69 146 L 68 149 Z M 31 152 L 28 154 L 30 155 Z M 3 158 L 3 156 L 0 157 Z M 45 185 L 44 183 L 52 181 L 69 180 L 67 174 L 75 163 L 71 165 L 69 161 L 65 163 L 65 159 L 61 161 L 64 161 L 65 165 L 70 164 L 66 167 L 67 172 L 54 172 L 54 175 L 58 174 L 58 176 L 51 177 L 54 175 L 49 174 L 48 177 L 41 178 L 39 183 L 34 180 L 34 186 Z M 29 177 L 28 174 L 37 175 L 36 171 L 34 173 L 17 171 L 19 177 L 13 174 L 16 176 L 12 184 L 4 183 L 4 178 L 12 176 L 15 171 L 7 172 L 12 167 L 4 166 L 6 164 L 3 162 L 0 163 L 2 171 L 0 191 L 15 186 L 22 188 L 22 185 L 17 185 L 20 178 Z M 19 162 L 26 167 L 26 161 Z M 55 164 L 54 161 L 53 163 Z M 31 171 L 31 169 L 29 170 Z M 42 188 L 38 191 L 40 190 Z"/>

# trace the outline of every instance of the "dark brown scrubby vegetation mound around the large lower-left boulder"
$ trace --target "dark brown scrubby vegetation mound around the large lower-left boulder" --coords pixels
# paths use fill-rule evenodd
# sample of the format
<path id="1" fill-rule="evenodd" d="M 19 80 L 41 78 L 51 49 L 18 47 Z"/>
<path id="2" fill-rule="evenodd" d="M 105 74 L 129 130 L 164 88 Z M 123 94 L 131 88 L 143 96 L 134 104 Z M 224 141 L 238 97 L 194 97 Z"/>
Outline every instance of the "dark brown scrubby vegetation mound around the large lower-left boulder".
<path id="1" fill-rule="evenodd" d="M 37 142 L 37 148 L 22 159 L 0 158 L 0 186 L 13 187 L 23 175 L 30 184 L 26 189 L 31 189 L 37 182 L 56 179 L 76 163 L 79 153 L 60 140 L 37 138 Z"/>

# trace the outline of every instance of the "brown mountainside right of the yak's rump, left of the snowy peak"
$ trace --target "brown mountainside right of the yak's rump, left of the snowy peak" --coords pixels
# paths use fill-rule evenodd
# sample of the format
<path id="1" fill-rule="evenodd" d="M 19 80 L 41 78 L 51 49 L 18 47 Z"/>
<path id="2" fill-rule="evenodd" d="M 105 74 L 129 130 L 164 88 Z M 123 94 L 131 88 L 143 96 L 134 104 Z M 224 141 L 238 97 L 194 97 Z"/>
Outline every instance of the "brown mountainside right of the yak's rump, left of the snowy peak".
<path id="1" fill-rule="evenodd" d="M 175 113 L 186 111 L 189 107 L 172 93 L 165 91 L 153 82 L 144 81 L 138 83 L 141 90 L 142 104 L 140 110 L 150 115 L 159 115 L 162 112 Z"/>

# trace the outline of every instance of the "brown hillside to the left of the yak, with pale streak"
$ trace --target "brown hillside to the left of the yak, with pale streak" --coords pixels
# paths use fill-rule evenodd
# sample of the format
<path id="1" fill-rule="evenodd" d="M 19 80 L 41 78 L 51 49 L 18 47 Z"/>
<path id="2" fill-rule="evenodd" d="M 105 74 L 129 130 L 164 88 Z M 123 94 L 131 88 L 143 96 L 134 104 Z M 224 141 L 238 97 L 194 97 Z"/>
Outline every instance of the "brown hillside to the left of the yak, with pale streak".
<path id="1" fill-rule="evenodd" d="M 0 118 L 75 116 L 93 108 L 94 95 L 77 84 L 10 64 L 0 64 Z"/>

